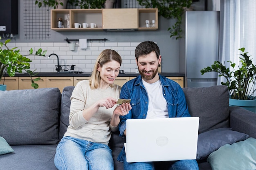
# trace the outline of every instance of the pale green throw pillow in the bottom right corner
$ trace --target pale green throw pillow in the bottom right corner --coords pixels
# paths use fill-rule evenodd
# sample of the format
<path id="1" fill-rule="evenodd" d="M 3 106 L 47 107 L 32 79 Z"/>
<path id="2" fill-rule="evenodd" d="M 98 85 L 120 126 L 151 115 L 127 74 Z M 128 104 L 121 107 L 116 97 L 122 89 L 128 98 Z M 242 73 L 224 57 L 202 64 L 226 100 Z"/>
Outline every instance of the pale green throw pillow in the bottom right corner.
<path id="1" fill-rule="evenodd" d="M 209 155 L 207 161 L 212 170 L 255 170 L 256 139 L 226 144 Z"/>

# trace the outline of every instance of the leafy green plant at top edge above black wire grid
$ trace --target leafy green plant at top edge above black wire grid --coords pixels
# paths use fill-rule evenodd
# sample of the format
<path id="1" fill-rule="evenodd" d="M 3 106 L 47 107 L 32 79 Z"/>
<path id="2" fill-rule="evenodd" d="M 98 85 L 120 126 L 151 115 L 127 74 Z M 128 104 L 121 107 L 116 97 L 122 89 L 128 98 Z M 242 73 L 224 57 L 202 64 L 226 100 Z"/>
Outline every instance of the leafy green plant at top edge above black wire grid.
<path id="1" fill-rule="evenodd" d="M 67 0 L 36 0 L 35 4 L 38 4 L 39 8 L 45 5 L 54 9 L 64 9 L 66 8 Z"/>

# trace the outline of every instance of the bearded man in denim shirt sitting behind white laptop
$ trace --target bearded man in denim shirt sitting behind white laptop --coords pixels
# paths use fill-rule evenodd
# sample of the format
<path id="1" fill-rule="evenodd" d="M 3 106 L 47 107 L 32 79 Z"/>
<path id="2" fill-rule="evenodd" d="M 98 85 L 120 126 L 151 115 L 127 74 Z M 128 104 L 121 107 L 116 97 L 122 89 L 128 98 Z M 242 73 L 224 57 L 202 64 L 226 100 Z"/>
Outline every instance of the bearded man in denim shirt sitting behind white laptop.
<path id="1" fill-rule="evenodd" d="M 180 85 L 157 72 L 162 60 L 157 44 L 141 42 L 135 49 L 135 57 L 140 75 L 121 89 L 120 98 L 131 99 L 132 109 L 120 116 L 120 136 L 126 136 L 126 119 L 190 117 Z M 157 166 L 168 170 L 198 170 L 196 160 L 128 163 L 124 148 L 118 160 L 124 162 L 124 170 L 155 170 Z"/>

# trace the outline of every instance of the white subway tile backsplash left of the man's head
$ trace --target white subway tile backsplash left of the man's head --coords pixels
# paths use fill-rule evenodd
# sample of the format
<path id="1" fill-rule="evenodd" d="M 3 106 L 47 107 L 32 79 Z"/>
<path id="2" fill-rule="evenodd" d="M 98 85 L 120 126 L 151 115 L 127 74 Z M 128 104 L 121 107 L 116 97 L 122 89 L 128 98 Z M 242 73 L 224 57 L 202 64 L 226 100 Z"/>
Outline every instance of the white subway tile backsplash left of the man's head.
<path id="1" fill-rule="evenodd" d="M 34 53 L 38 49 L 47 50 L 46 57 L 43 56 L 27 56 L 32 60 L 30 63 L 31 70 L 37 72 L 56 72 L 55 65 L 57 65 L 57 57 L 52 55 L 55 53 L 59 57 L 60 65 L 76 65 L 74 70 L 81 70 L 85 73 L 90 73 L 94 67 L 98 55 L 104 49 L 113 49 L 117 51 L 122 57 L 121 69 L 124 72 L 135 72 L 137 68 L 135 62 L 134 51 L 140 42 L 88 42 L 87 49 L 81 50 L 79 42 L 76 42 L 75 50 L 70 51 L 68 43 L 66 42 L 36 42 L 36 43 L 8 43 L 9 47 L 18 47 L 22 55 L 29 54 L 32 48 Z"/>

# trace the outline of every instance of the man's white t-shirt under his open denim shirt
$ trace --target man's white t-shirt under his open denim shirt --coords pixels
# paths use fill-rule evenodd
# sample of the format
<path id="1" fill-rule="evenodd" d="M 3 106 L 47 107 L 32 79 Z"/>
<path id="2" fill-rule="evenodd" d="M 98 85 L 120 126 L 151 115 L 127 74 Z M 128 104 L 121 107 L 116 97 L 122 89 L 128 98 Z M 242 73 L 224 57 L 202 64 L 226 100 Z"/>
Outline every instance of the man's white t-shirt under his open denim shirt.
<path id="1" fill-rule="evenodd" d="M 168 116 L 167 102 L 163 96 L 163 88 L 160 80 L 155 83 L 147 83 L 142 80 L 148 93 L 148 113 L 146 118 L 166 118 Z"/>

